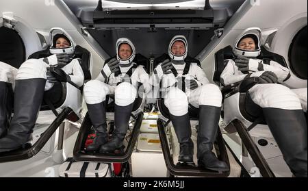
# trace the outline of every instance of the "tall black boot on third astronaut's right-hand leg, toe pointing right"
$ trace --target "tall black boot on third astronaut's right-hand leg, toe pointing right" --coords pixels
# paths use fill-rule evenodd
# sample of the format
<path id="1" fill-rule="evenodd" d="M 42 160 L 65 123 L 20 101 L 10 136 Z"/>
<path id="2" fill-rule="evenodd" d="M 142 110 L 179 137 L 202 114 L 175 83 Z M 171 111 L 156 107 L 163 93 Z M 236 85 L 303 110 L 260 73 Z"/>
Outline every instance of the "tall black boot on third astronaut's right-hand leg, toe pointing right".
<path id="1" fill-rule="evenodd" d="M 212 152 L 213 143 L 217 136 L 218 123 L 220 119 L 221 107 L 209 105 L 200 105 L 199 107 L 199 125 L 198 125 L 198 166 L 209 170 L 225 172 L 229 166 L 216 157 Z"/>

